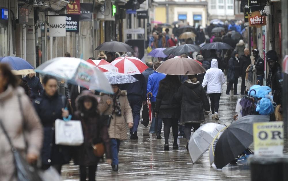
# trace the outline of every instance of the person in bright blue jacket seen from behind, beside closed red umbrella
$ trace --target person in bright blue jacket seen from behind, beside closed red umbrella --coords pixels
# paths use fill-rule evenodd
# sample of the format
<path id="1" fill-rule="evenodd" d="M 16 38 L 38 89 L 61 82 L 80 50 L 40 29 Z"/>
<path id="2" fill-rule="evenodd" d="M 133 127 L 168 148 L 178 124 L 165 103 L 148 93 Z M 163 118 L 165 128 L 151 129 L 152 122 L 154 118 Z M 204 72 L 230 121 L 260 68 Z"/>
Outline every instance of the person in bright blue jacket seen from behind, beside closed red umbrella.
<path id="1" fill-rule="evenodd" d="M 153 65 L 153 69 L 156 70 L 161 65 L 160 62 L 155 62 Z M 152 97 L 150 99 L 152 108 L 153 108 L 153 116 L 155 117 L 155 104 L 156 104 L 156 96 L 159 89 L 159 83 L 162 79 L 164 79 L 166 75 L 164 73 L 154 72 L 148 77 L 148 84 L 147 84 L 147 94 L 149 92 L 152 93 Z M 148 95 L 147 95 L 148 96 Z M 161 129 L 162 129 L 162 119 L 158 119 L 158 128 L 157 128 L 157 139 L 161 139 Z"/>

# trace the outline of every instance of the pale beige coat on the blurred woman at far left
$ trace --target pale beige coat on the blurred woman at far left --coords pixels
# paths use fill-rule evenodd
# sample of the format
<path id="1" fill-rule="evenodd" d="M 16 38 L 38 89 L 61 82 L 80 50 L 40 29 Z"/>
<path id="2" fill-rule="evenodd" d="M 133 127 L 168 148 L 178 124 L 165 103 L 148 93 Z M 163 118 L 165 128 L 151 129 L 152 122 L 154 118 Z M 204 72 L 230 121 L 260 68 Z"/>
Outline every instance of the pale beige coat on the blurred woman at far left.
<path id="1" fill-rule="evenodd" d="M 23 116 L 20 111 L 18 95 L 20 95 L 20 101 L 22 102 Z M 5 92 L 0 94 L 0 120 L 12 139 L 13 145 L 22 156 L 25 157 L 25 150 L 27 150 L 27 153 L 39 156 L 43 141 L 43 128 L 22 87 L 14 89 L 9 85 Z M 23 124 L 25 128 L 23 128 Z M 26 147 L 25 141 L 28 147 Z M 16 180 L 13 176 L 15 166 L 11 147 L 1 128 L 0 145 L 0 180 Z"/>

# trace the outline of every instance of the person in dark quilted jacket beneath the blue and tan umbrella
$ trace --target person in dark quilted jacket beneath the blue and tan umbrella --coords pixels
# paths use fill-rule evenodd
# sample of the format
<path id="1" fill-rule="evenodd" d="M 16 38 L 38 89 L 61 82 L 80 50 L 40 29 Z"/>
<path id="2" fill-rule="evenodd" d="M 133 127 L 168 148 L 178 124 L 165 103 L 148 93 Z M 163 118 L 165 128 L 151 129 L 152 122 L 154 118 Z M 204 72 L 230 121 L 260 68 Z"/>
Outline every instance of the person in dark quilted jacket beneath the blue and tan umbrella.
<path id="1" fill-rule="evenodd" d="M 23 77 L 27 81 L 28 86 L 31 89 L 31 97 L 41 95 L 43 93 L 43 87 L 41 85 L 40 79 L 35 76 L 35 73 L 29 73 L 26 77 Z"/>

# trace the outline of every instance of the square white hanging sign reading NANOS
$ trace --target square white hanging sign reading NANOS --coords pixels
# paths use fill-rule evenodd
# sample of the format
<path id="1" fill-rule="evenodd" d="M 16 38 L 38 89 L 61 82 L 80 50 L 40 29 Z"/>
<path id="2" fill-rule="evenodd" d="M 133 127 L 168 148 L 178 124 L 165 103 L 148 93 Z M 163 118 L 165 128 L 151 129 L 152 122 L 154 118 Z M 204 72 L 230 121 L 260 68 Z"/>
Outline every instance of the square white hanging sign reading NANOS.
<path id="1" fill-rule="evenodd" d="M 66 16 L 49 16 L 50 36 L 66 36 Z"/>

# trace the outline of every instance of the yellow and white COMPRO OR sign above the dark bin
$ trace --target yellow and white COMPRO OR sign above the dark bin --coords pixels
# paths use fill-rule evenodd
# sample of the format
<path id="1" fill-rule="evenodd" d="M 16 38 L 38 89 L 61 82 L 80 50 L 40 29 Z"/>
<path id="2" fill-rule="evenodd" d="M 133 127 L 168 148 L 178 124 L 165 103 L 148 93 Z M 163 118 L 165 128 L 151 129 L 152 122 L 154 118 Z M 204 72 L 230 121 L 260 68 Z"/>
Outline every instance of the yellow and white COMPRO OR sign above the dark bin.
<path id="1" fill-rule="evenodd" d="M 282 155 L 283 137 L 283 121 L 254 123 L 254 155 Z"/>

